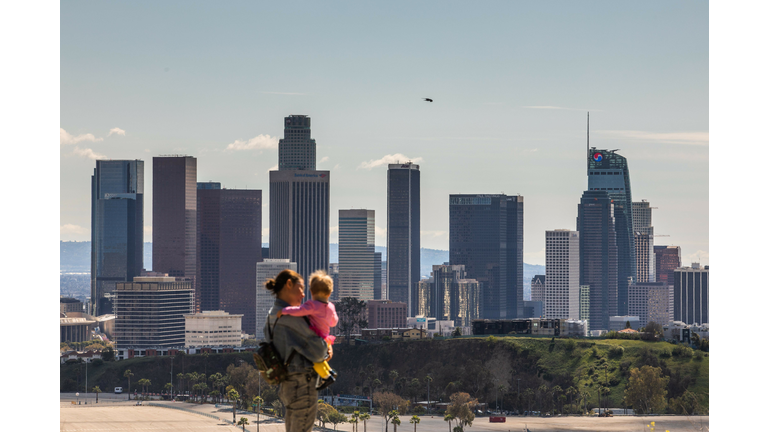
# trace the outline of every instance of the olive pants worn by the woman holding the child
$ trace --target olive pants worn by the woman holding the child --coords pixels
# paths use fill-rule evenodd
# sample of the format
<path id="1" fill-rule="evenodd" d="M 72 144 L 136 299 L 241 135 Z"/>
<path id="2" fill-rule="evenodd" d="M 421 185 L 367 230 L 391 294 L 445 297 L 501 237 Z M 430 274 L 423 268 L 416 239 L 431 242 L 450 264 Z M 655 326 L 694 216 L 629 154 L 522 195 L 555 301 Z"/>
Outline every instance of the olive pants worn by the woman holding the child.
<path id="1" fill-rule="evenodd" d="M 280 384 L 277 396 L 285 406 L 285 431 L 309 432 L 317 418 L 316 376 L 292 373 Z"/>

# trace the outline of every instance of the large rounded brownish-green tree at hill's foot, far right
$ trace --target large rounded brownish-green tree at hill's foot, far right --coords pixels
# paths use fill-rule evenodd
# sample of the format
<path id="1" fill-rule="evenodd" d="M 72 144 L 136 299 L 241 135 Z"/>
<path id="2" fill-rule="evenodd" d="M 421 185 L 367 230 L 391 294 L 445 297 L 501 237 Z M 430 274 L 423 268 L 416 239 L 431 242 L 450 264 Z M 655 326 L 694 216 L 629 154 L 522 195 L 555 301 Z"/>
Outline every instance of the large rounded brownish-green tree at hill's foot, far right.
<path id="1" fill-rule="evenodd" d="M 669 377 L 661 373 L 660 367 L 645 365 L 630 370 L 629 384 L 624 391 L 624 401 L 639 414 L 662 411 L 666 405 Z"/>

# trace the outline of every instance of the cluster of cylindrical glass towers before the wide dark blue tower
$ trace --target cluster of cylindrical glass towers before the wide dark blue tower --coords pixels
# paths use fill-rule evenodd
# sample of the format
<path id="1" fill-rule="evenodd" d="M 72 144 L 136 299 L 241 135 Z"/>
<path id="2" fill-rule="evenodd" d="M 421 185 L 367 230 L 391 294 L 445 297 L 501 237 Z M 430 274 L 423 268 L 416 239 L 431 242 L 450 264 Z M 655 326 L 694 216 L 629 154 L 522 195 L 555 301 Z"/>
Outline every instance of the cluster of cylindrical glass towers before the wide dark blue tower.
<path id="1" fill-rule="evenodd" d="M 463 265 L 433 265 L 432 276 L 416 286 L 417 315 L 454 321 L 456 326 L 469 326 L 482 316 L 480 283 L 466 277 Z"/>

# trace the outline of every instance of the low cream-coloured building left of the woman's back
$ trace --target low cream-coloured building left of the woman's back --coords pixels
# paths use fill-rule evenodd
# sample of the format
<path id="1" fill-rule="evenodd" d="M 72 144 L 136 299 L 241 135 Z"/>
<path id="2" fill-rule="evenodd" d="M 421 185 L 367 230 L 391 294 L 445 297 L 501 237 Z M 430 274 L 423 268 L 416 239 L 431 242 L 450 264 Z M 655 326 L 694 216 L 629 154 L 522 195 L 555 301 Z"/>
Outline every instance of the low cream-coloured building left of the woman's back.
<path id="1" fill-rule="evenodd" d="M 184 315 L 184 346 L 241 346 L 243 315 L 203 311 Z"/>

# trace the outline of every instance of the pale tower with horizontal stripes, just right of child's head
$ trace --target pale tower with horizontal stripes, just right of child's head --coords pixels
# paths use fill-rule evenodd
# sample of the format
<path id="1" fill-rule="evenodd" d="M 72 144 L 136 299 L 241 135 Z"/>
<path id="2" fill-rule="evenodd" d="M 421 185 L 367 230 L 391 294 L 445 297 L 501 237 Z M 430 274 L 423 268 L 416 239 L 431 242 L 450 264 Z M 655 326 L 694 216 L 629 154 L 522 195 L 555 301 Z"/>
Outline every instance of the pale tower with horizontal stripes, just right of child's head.
<path id="1" fill-rule="evenodd" d="M 376 265 L 374 219 L 373 210 L 339 210 L 339 286 L 336 287 L 339 298 L 374 300 L 376 294 L 381 296 L 381 266 Z"/>

